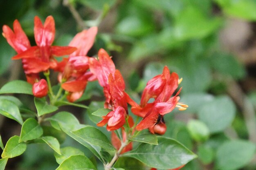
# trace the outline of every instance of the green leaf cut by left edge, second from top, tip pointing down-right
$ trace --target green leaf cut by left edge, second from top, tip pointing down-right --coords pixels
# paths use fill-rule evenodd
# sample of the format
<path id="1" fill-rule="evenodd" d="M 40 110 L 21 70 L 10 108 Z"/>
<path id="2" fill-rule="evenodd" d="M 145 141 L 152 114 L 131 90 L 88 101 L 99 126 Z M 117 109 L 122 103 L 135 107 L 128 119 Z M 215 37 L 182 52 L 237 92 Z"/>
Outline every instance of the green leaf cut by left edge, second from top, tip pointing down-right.
<path id="1" fill-rule="evenodd" d="M 23 124 L 18 106 L 7 99 L 0 99 L 0 114 L 18 121 L 21 125 Z"/>

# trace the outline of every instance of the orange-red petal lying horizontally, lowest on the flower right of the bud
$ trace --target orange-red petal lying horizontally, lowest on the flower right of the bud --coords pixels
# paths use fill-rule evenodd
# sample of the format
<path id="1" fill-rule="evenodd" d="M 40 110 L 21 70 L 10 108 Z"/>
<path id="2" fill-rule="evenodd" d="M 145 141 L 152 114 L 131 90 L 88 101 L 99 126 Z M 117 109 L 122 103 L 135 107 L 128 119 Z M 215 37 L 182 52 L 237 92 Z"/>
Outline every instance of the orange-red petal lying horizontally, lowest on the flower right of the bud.
<path id="1" fill-rule="evenodd" d="M 61 87 L 65 91 L 78 92 L 78 91 L 83 91 L 86 85 L 87 85 L 87 80 L 73 80 L 73 81 L 63 83 Z"/>

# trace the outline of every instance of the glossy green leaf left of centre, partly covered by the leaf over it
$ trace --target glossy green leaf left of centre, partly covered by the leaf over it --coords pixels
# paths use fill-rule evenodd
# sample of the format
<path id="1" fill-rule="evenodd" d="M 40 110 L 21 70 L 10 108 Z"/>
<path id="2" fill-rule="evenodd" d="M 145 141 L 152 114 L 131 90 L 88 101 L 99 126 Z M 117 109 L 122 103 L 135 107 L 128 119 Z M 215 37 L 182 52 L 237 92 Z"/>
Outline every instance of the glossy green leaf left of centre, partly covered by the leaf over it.
<path id="1" fill-rule="evenodd" d="M 80 128 L 83 128 L 85 125 L 79 124 L 79 121 L 68 112 L 59 112 L 56 115 L 48 118 L 48 120 L 51 121 L 51 124 L 54 123 L 54 126 L 58 126 L 58 128 L 61 128 L 63 132 L 65 132 L 67 135 L 78 141 L 80 144 L 88 148 L 96 157 L 98 157 L 102 162 L 105 162 L 105 159 L 101 155 L 101 147 L 90 144 L 85 142 L 80 137 L 74 135 L 71 131 L 79 130 Z"/>

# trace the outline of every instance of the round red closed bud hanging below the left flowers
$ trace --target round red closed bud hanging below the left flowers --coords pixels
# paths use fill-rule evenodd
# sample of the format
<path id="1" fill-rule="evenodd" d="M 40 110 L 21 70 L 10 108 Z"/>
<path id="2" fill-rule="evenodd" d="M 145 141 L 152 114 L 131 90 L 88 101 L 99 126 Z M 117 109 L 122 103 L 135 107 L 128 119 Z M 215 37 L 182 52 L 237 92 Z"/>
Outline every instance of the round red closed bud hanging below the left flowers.
<path id="1" fill-rule="evenodd" d="M 35 97 L 45 97 L 48 93 L 48 85 L 45 79 L 40 79 L 39 82 L 33 84 L 32 92 Z"/>

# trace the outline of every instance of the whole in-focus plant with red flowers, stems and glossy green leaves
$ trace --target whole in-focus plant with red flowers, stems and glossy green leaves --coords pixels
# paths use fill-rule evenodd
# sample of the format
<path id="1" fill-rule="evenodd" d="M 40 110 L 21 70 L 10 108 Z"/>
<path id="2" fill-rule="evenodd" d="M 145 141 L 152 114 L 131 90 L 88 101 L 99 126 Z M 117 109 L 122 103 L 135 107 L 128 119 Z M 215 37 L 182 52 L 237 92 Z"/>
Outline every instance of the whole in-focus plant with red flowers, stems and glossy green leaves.
<path id="1" fill-rule="evenodd" d="M 151 170 L 178 170 L 196 157 L 178 141 L 161 136 L 167 128 L 164 115 L 175 107 L 179 110 L 188 107 L 179 102 L 181 88 L 175 93 L 182 79 L 177 73 L 170 73 L 167 66 L 162 74 L 148 81 L 140 104 L 137 104 L 126 93 L 125 80 L 107 51 L 99 49 L 98 55 L 87 56 L 94 44 L 97 27 L 77 33 L 68 46 L 52 45 L 55 38 L 52 16 L 48 16 L 44 24 L 37 16 L 34 18 L 36 46 L 30 45 L 18 20 L 13 23 L 13 31 L 7 25 L 2 29 L 7 42 L 18 53 L 12 59 L 22 59 L 27 82 L 8 82 L 2 86 L 0 94 L 34 95 L 36 110 L 20 106 L 15 97 L 1 96 L 0 113 L 21 124 L 19 136 L 11 137 L 5 146 L 0 140 L 3 150 L 1 170 L 8 159 L 22 155 L 32 143 L 46 143 L 54 150 L 60 164 L 56 170 L 97 170 L 81 150 L 73 146 L 62 147 L 58 133 L 68 135 L 88 148 L 103 163 L 105 170 L 124 170 L 120 161 L 127 157 Z M 63 59 L 58 62 L 55 57 Z M 58 73 L 58 84 L 52 86 L 50 74 L 55 72 Z M 72 113 L 59 110 L 63 105 L 90 109 L 74 102 L 81 98 L 92 81 L 99 83 L 105 97 L 105 104 L 90 115 L 99 120 L 95 126 L 80 124 Z M 105 126 L 111 131 L 109 135 L 102 132 Z"/>

